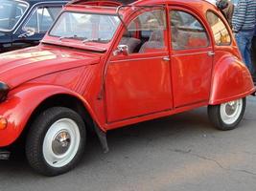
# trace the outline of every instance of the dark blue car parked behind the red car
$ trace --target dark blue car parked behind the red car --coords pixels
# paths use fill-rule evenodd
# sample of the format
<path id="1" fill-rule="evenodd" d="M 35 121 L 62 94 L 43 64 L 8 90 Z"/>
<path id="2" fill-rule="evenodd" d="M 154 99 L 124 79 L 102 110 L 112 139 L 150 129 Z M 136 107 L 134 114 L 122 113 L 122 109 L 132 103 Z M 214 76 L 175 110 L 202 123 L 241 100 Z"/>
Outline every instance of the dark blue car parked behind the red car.
<path id="1" fill-rule="evenodd" d="M 37 45 L 66 3 L 0 0 L 0 53 Z"/>

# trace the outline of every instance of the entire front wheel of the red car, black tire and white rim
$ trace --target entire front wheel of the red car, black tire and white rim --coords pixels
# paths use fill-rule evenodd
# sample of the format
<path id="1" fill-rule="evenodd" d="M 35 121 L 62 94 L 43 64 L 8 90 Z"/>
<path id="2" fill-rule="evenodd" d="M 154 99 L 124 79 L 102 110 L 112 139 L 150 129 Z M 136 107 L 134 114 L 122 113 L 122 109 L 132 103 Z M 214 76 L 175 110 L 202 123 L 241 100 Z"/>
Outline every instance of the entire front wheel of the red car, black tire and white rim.
<path id="1" fill-rule="evenodd" d="M 73 110 L 54 107 L 35 118 L 26 141 L 31 166 L 46 176 L 74 168 L 85 145 L 85 126 Z"/>

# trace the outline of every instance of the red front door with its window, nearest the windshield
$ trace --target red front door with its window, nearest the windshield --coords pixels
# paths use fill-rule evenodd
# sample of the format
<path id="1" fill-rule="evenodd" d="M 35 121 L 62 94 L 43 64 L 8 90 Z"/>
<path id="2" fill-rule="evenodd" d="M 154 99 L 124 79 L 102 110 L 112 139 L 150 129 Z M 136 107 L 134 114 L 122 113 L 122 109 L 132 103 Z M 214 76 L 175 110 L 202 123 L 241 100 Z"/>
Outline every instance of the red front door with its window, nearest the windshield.
<path id="1" fill-rule="evenodd" d="M 105 79 L 107 122 L 141 117 L 173 107 L 165 11 L 146 9 L 128 25 Z"/>

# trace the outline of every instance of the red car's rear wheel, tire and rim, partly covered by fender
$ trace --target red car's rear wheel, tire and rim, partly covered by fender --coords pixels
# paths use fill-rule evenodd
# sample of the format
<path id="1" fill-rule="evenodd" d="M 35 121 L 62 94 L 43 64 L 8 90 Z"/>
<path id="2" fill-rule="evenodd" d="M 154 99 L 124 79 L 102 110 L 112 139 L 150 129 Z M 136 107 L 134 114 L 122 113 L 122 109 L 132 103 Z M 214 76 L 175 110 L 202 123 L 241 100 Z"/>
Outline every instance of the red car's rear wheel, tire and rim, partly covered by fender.
<path id="1" fill-rule="evenodd" d="M 209 105 L 208 116 L 218 129 L 223 131 L 232 130 L 237 127 L 244 117 L 245 105 L 245 97 L 220 105 Z"/>

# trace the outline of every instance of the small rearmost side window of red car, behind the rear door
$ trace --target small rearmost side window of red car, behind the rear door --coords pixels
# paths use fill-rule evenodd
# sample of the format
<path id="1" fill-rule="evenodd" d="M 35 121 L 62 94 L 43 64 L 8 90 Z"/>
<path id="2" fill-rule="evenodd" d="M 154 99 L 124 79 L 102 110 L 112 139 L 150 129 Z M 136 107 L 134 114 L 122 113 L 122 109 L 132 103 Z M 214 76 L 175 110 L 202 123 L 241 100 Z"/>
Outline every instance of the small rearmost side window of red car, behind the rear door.
<path id="1" fill-rule="evenodd" d="M 215 43 L 219 46 L 229 45 L 231 43 L 231 37 L 221 18 L 212 11 L 207 11 L 206 17 L 212 28 Z"/>

